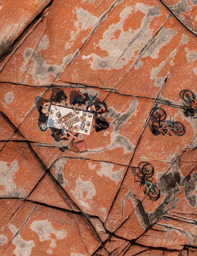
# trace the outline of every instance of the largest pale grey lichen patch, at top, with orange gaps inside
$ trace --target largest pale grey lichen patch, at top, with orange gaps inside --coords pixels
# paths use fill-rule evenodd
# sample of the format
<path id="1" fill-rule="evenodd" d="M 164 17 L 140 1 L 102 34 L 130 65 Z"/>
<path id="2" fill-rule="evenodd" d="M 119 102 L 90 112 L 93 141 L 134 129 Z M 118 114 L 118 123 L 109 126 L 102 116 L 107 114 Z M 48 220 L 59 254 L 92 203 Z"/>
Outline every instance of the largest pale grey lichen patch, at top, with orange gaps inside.
<path id="1" fill-rule="evenodd" d="M 106 51 L 108 56 L 100 57 L 95 53 L 82 56 L 82 59 L 89 59 L 91 69 L 122 69 L 124 65 L 127 65 L 135 57 L 136 51 L 140 51 L 142 45 L 146 45 L 152 38 L 153 29 L 150 29 L 150 23 L 154 17 L 161 15 L 159 8 L 137 3 L 135 11 L 139 10 L 145 14 L 140 28 L 136 30 L 129 28 L 128 31 L 124 31 L 124 22 L 132 14 L 132 10 L 132 6 L 125 7 L 119 14 L 119 22 L 110 25 L 104 31 L 103 38 L 96 45 L 101 50 Z M 120 31 L 118 38 L 113 36 L 116 31 Z"/>

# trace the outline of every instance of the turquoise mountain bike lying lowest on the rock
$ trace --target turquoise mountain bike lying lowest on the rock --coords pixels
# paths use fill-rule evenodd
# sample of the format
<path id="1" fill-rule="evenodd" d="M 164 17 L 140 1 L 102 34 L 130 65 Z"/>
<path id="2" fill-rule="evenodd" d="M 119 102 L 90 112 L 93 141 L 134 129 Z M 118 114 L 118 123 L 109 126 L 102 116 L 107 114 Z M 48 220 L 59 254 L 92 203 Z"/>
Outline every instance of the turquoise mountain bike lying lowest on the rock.
<path id="1" fill-rule="evenodd" d="M 148 191 L 148 196 L 151 200 L 156 201 L 160 197 L 160 190 L 158 187 L 155 186 L 155 184 L 152 184 L 152 182 L 146 180 L 147 178 L 150 178 L 154 174 L 154 168 L 152 164 L 144 164 L 144 166 L 141 169 L 142 178 L 140 179 L 140 183 L 142 186 L 145 186 L 144 194 L 146 194 L 146 191 Z"/>

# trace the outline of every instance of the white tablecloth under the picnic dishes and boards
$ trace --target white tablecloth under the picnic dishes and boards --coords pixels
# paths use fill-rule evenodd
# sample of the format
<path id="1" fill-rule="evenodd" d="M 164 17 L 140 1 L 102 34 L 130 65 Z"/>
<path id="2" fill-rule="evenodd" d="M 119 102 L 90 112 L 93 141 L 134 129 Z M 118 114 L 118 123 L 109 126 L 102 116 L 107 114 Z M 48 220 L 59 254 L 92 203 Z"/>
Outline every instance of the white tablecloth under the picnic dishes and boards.
<path id="1" fill-rule="evenodd" d="M 72 112 L 73 115 L 74 115 L 72 118 L 78 116 L 79 119 L 80 119 L 80 117 L 83 116 L 82 113 L 83 113 L 83 112 L 86 112 L 87 115 L 85 116 L 86 121 L 84 122 L 84 123 L 85 123 L 84 129 L 87 129 L 88 132 L 85 133 L 85 132 L 84 132 L 84 129 L 83 129 L 83 130 L 80 129 L 80 130 L 78 131 L 78 133 L 87 134 L 87 135 L 90 134 L 90 130 L 91 130 L 91 126 L 92 126 L 92 120 L 93 120 L 93 114 L 92 114 L 92 117 L 88 117 L 88 114 L 89 114 L 90 112 L 85 111 L 85 110 L 79 110 L 79 115 L 77 115 L 77 114 L 74 113 L 75 110 L 74 110 L 73 108 L 62 107 L 62 106 L 55 106 L 55 105 L 52 105 L 52 104 L 51 104 L 50 110 L 53 110 L 54 113 L 53 113 L 53 114 L 49 114 L 47 126 L 48 126 L 48 127 L 52 127 L 52 128 L 57 128 L 57 129 L 61 129 L 61 128 L 60 128 L 60 125 L 61 125 L 60 123 L 57 123 L 57 124 L 54 124 L 54 123 L 53 123 L 54 118 L 55 118 L 56 120 L 59 119 L 59 118 L 56 117 L 56 113 L 57 113 L 57 112 L 60 112 L 62 117 L 63 117 L 64 115 L 67 115 L 67 114 L 69 114 L 70 112 Z M 77 110 L 77 109 L 76 109 L 76 110 Z M 52 117 L 53 117 L 53 118 L 52 118 Z M 72 118 L 70 118 L 69 120 L 71 120 Z M 68 121 L 68 120 L 66 120 L 66 121 Z M 89 127 L 86 126 L 86 123 L 88 123 L 88 122 L 90 122 L 90 126 L 89 126 Z M 76 125 L 78 125 L 78 126 L 81 128 L 81 124 L 82 124 L 82 122 L 79 121 L 79 122 L 73 124 L 73 126 L 75 127 Z M 66 128 L 66 130 L 68 131 L 68 127 L 65 127 L 65 128 Z M 88 128 L 89 128 L 89 129 L 88 129 Z M 74 130 L 73 132 L 76 132 L 76 131 Z"/>

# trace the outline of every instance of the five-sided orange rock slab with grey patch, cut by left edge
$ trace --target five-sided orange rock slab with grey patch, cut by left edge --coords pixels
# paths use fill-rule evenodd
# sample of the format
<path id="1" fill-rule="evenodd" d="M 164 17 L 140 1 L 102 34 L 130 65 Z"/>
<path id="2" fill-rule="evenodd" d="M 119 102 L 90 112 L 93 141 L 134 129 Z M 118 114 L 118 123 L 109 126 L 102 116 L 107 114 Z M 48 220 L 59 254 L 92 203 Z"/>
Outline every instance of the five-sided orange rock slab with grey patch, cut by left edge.
<path id="1" fill-rule="evenodd" d="M 26 143 L 7 142 L 0 159 L 0 197 L 26 198 L 45 173 Z"/>

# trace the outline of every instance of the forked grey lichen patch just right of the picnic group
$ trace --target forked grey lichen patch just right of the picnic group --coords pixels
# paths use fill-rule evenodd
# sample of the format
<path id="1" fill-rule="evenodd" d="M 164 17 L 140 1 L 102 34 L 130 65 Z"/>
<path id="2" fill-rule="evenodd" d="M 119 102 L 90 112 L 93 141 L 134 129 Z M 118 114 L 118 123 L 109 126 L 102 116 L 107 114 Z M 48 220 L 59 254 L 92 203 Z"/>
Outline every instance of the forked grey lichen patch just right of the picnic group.
<path id="1" fill-rule="evenodd" d="M 114 148 L 122 147 L 124 149 L 124 154 L 131 153 L 134 151 L 135 146 L 131 143 L 131 141 L 122 136 L 120 134 L 120 128 L 123 126 L 133 115 L 135 111 L 137 111 L 138 99 L 134 98 L 129 108 L 125 112 L 118 112 L 113 107 L 110 108 L 108 113 L 109 118 L 113 118 L 111 122 L 111 126 L 114 127 L 113 132 L 111 133 L 111 142 L 107 146 L 107 150 L 112 150 Z"/>

